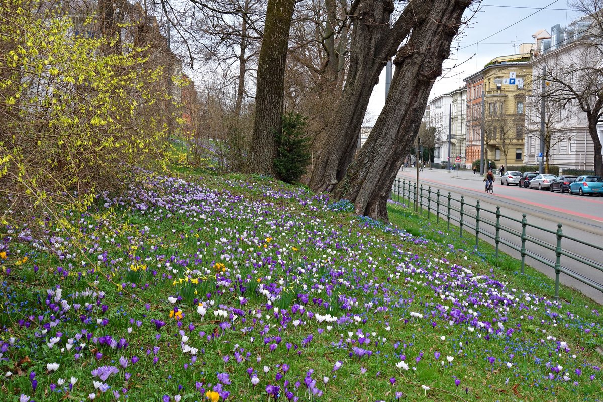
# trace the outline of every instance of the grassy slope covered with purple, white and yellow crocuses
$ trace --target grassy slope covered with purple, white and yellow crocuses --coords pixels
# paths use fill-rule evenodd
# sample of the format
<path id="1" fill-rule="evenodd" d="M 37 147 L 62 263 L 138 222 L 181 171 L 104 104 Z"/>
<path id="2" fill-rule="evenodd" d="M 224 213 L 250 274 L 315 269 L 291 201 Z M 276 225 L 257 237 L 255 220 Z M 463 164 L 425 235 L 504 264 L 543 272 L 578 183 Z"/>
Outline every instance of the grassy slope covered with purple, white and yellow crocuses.
<path id="1" fill-rule="evenodd" d="M 600 306 L 347 201 L 140 171 L 64 218 L 1 232 L 2 400 L 603 398 Z"/>

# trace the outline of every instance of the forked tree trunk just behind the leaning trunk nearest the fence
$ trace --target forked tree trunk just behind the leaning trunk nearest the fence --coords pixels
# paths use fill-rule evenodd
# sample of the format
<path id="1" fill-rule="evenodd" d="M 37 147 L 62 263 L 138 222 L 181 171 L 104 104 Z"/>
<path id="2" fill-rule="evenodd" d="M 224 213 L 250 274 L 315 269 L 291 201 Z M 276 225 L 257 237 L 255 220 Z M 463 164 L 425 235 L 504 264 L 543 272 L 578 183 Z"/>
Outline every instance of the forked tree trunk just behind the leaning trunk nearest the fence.
<path id="1" fill-rule="evenodd" d="M 309 186 L 320 192 L 332 189 L 352 162 L 373 87 L 387 61 L 413 27 L 421 24 L 437 0 L 411 0 L 390 28 L 391 0 L 365 0 L 353 12 L 350 71 L 346 77 L 336 118 L 312 143 Z"/>

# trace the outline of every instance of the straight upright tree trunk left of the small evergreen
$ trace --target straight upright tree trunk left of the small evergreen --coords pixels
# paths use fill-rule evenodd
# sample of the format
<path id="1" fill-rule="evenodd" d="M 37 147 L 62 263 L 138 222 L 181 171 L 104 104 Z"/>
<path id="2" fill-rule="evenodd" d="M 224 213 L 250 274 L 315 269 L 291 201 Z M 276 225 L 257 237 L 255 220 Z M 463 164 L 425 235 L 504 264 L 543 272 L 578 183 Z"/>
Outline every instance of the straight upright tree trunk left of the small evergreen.
<path id="1" fill-rule="evenodd" d="M 285 63 L 295 0 L 268 0 L 264 39 L 257 65 L 256 111 L 245 171 L 274 173 L 276 145 L 283 113 Z"/>

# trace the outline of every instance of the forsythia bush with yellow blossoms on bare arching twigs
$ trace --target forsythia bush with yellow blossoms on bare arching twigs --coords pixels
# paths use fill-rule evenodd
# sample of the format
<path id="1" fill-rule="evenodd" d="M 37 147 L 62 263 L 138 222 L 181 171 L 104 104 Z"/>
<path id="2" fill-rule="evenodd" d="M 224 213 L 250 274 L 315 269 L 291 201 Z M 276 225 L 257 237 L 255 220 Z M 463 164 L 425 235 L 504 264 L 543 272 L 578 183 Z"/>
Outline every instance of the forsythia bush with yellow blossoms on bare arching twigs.
<path id="1" fill-rule="evenodd" d="M 60 4 L 0 2 L 1 224 L 86 209 L 132 166 L 165 165 L 165 63 L 148 42 L 107 51 L 94 17 L 75 26 Z"/>

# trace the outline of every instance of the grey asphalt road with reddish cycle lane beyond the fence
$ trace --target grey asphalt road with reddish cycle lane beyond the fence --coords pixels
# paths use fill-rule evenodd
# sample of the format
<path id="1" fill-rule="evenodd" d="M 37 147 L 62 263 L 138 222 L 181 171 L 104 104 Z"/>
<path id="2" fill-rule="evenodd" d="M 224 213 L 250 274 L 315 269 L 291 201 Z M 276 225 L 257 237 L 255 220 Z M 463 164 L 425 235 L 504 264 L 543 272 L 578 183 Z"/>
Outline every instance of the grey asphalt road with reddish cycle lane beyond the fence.
<path id="1" fill-rule="evenodd" d="M 409 180 L 414 182 L 416 175 L 417 172 L 415 169 L 405 168 L 399 172 L 398 178 L 407 182 Z M 474 175 L 472 171 L 448 172 L 439 169 L 430 171 L 428 168 L 425 168 L 423 172 L 419 173 L 419 183 L 423 185 L 424 192 L 426 192 L 428 186 L 431 186 L 434 192 L 440 189 L 442 197 L 445 197 L 447 192 L 451 193 L 452 198 L 457 199 L 463 195 L 466 203 L 464 210 L 471 214 L 475 214 L 476 212 L 475 204 L 477 200 L 479 200 L 482 209 L 494 211 L 496 210 L 496 206 L 500 206 L 502 215 L 511 216 L 517 220 L 521 220 L 522 214 L 525 213 L 528 224 L 535 226 L 529 226 L 526 229 L 526 233 L 536 241 L 539 240 L 539 242 L 554 246 L 557 243 L 557 237 L 555 234 L 547 233 L 545 230 L 556 231 L 558 224 L 561 224 L 564 236 L 574 237 L 599 246 L 603 245 L 603 197 L 570 196 L 567 193 L 551 193 L 548 190 L 538 191 L 522 189 L 516 186 L 501 186 L 500 177 L 498 176 L 496 177 L 496 181 L 494 181 L 494 194 L 490 195 L 484 192 L 483 179 L 479 174 Z M 458 203 L 456 205 L 458 206 Z M 494 221 L 495 217 L 493 214 L 485 211 L 481 212 L 481 218 L 489 219 L 490 217 Z M 521 225 L 517 222 L 501 219 L 500 223 L 521 232 Z M 540 228 L 545 230 L 541 230 Z M 482 229 L 494 233 L 494 229 L 487 225 L 482 225 Z M 518 246 L 521 243 L 518 237 L 504 233 L 504 231 L 501 231 L 500 236 Z M 494 243 L 494 240 L 489 239 L 487 236 L 482 235 L 481 239 Z M 587 257 L 599 264 L 603 262 L 603 251 L 582 243 L 563 239 L 562 248 L 564 251 Z M 543 259 L 555 262 L 555 252 L 548 250 L 546 247 L 541 247 L 537 243 L 527 242 L 526 249 Z M 521 257 L 519 252 L 505 245 L 501 244 L 500 250 L 518 259 Z M 538 271 L 543 272 L 551 278 L 555 277 L 554 269 L 544 263 L 526 257 L 526 264 L 538 269 Z M 561 266 L 584 275 L 584 277 L 590 278 L 599 284 L 603 284 L 603 272 L 595 268 L 575 262 L 566 256 L 561 256 Z M 563 273 L 560 280 L 561 283 L 575 287 L 599 304 L 603 304 L 603 294 L 598 290 Z"/>

